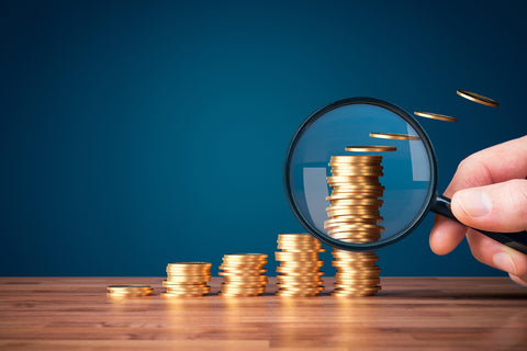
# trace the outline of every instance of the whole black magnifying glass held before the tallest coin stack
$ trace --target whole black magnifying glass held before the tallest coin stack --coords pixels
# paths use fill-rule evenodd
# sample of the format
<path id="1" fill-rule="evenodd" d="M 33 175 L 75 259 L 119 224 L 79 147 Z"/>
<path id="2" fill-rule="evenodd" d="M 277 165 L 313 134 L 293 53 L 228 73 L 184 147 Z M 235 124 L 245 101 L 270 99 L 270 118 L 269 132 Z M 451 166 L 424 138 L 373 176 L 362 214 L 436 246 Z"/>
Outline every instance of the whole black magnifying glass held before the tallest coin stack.
<path id="1" fill-rule="evenodd" d="M 408 138 L 375 139 L 370 137 L 370 133 L 402 134 Z M 396 151 L 366 154 L 346 151 L 347 147 L 349 150 L 349 146 L 371 146 L 379 145 L 380 141 L 382 145 L 395 147 Z M 360 151 L 368 151 L 368 148 Z M 335 184 L 332 183 L 335 170 L 330 166 L 335 162 L 332 161 L 332 157 L 335 160 L 350 155 L 382 158 L 381 163 L 374 166 L 365 163 L 365 167 L 371 166 L 367 169 L 382 169 L 378 185 L 378 189 L 382 189 L 382 197 L 379 197 L 381 201 L 378 203 L 382 205 L 378 205 L 377 222 L 380 222 L 383 231 L 380 235 L 375 234 L 375 240 L 348 242 L 349 240 L 328 233 L 332 230 L 327 226 L 327 220 L 332 214 L 338 212 L 328 210 L 332 199 L 335 197 L 335 195 L 332 197 L 335 191 L 333 188 Z M 357 167 L 349 166 L 347 169 Z M 430 211 L 457 220 L 450 211 L 450 200 L 437 193 L 437 160 L 428 135 L 412 115 L 382 100 L 350 98 L 315 111 L 298 128 L 289 145 L 283 177 L 289 204 L 299 222 L 318 240 L 337 249 L 373 251 L 394 244 L 414 230 Z M 344 188 L 347 191 L 355 191 L 356 188 L 352 186 Z M 369 185 L 363 186 L 367 189 Z M 346 214 L 348 214 L 346 218 L 355 218 L 355 213 Z M 358 225 L 351 225 L 354 226 Z M 371 225 L 365 224 L 361 228 L 368 226 Z M 527 253 L 526 231 L 475 230 Z"/>

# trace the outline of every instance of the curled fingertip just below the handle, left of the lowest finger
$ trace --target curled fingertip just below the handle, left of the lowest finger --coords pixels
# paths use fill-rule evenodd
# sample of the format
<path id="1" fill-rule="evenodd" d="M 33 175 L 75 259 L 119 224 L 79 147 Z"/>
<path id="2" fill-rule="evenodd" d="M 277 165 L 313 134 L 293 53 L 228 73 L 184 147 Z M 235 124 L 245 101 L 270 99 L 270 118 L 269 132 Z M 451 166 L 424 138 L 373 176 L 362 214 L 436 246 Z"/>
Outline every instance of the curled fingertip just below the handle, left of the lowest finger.
<path id="1" fill-rule="evenodd" d="M 436 254 L 447 254 L 464 238 L 467 227 L 442 216 L 435 216 L 430 233 L 430 248 Z"/>

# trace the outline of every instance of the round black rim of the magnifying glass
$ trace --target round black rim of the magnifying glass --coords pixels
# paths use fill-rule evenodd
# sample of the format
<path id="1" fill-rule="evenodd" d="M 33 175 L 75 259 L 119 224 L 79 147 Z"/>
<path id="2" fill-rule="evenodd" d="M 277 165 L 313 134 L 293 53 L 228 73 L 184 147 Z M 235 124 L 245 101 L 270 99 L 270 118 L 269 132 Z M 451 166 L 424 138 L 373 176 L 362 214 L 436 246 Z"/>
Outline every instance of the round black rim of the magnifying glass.
<path id="1" fill-rule="evenodd" d="M 312 226 L 310 220 L 307 220 L 302 212 L 299 208 L 299 205 L 296 203 L 296 199 L 293 195 L 292 186 L 291 186 L 291 162 L 293 158 L 294 150 L 296 149 L 296 145 L 299 144 L 299 140 L 305 133 L 305 131 L 309 129 L 309 127 L 319 117 L 325 115 L 332 110 L 345 106 L 345 105 L 351 105 L 351 104 L 370 104 L 370 105 L 375 105 L 380 106 L 386 110 L 392 111 L 393 113 L 397 114 L 401 116 L 403 120 L 405 120 L 418 134 L 421 137 L 423 144 L 425 145 L 426 152 L 428 155 L 428 158 L 430 160 L 430 183 L 428 186 L 428 194 L 426 195 L 426 200 L 424 202 L 424 206 L 419 210 L 418 214 L 414 217 L 414 219 L 402 230 L 400 230 L 396 235 L 391 236 L 390 238 L 380 240 L 380 241 L 374 241 L 374 242 L 368 242 L 368 244 L 355 244 L 355 242 L 344 242 L 340 240 L 337 240 L 335 238 L 332 238 L 327 234 L 322 233 L 318 230 L 316 227 Z M 397 242 L 399 240 L 403 239 L 406 237 L 412 230 L 414 230 L 425 218 L 425 216 L 428 214 L 430 206 L 433 204 L 433 201 L 436 197 L 436 189 L 437 189 L 437 159 L 436 159 L 436 154 L 434 151 L 434 147 L 431 145 L 431 141 L 426 134 L 425 129 L 421 126 L 421 124 L 412 116 L 410 115 L 406 111 L 403 109 L 399 107 L 397 105 L 394 105 L 388 101 L 383 101 L 380 99 L 375 98 L 368 98 L 368 97 L 357 97 L 357 98 L 347 98 L 347 99 L 341 99 L 337 100 L 335 102 L 332 102 L 315 112 L 313 112 L 296 129 L 296 132 L 293 135 L 293 138 L 291 139 L 288 150 L 285 152 L 285 159 L 283 163 L 283 186 L 285 190 L 285 197 L 288 199 L 289 205 L 291 210 L 293 211 L 294 216 L 296 219 L 299 219 L 300 224 L 307 229 L 314 237 L 316 237 L 318 240 L 334 247 L 337 249 L 341 250 L 348 250 L 348 251 L 373 251 L 383 247 L 386 247 L 389 245 L 392 245 L 394 242 Z"/>

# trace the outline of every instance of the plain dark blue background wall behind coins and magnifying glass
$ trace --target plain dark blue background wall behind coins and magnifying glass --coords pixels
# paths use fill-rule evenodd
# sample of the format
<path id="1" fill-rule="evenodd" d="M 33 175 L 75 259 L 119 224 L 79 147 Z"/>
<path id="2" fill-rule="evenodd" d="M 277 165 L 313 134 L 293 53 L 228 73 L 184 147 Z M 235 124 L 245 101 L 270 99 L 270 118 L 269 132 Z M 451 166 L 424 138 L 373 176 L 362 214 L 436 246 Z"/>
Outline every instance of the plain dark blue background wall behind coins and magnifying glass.
<path id="1" fill-rule="evenodd" d="M 188 260 L 215 274 L 224 253 L 272 254 L 279 233 L 303 231 L 282 186 L 289 140 L 337 99 L 458 117 L 421 120 L 439 191 L 464 157 L 527 129 L 520 1 L 10 1 L 0 13 L 0 275 L 164 275 Z M 383 275 L 502 274 L 464 242 L 435 256 L 431 219 L 379 252 Z"/>

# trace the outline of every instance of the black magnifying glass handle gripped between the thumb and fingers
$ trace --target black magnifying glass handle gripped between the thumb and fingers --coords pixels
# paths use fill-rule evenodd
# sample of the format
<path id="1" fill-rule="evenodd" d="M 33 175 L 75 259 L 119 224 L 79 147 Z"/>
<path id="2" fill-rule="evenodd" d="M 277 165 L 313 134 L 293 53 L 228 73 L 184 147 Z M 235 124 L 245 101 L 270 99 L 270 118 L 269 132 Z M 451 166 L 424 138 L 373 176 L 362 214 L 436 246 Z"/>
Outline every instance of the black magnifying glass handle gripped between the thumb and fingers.
<path id="1" fill-rule="evenodd" d="M 450 199 L 445 197 L 442 195 L 436 195 L 436 202 L 431 205 L 430 210 L 438 215 L 448 217 L 460 223 L 452 214 L 450 210 Z M 479 233 L 486 235 L 489 238 L 494 239 L 503 245 L 508 246 L 519 252 L 527 254 L 527 231 L 518 231 L 518 233 L 494 233 L 494 231 L 486 231 L 475 229 Z"/>

